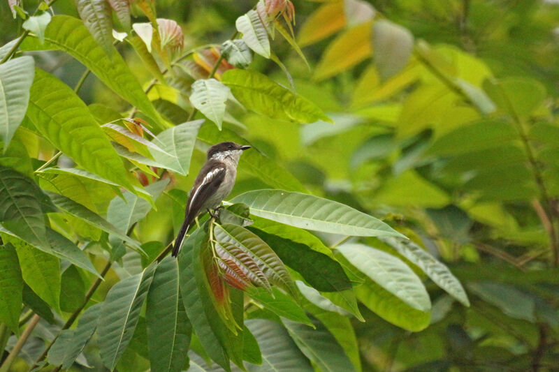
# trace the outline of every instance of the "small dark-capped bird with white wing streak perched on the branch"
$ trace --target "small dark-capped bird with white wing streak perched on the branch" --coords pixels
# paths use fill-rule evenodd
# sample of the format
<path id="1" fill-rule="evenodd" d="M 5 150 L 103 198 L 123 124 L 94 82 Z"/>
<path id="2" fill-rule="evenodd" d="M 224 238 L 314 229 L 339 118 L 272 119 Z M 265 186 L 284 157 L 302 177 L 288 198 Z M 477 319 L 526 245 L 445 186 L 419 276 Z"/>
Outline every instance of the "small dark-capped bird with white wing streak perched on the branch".
<path id="1" fill-rule="evenodd" d="M 210 147 L 207 160 L 190 191 L 184 222 L 173 246 L 173 256 L 177 257 L 184 235 L 194 218 L 219 207 L 222 200 L 231 193 L 235 186 L 240 155 L 246 149 L 250 149 L 250 146 L 242 146 L 235 142 L 221 142 Z"/>

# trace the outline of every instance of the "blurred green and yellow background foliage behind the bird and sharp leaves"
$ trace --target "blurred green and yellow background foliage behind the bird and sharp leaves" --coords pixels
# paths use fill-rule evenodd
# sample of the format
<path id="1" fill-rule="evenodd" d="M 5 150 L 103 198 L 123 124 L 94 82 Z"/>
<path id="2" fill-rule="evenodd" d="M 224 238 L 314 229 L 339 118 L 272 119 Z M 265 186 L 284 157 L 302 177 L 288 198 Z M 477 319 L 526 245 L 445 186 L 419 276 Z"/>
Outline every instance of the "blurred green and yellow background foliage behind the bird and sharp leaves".
<path id="1" fill-rule="evenodd" d="M 37 3 L 24 0 L 26 8 Z M 270 119 L 228 103 L 233 119 L 224 128 L 284 165 L 315 195 L 383 216 L 446 262 L 470 295 L 465 308 L 428 285 L 431 324 L 421 332 L 391 325 L 361 305 L 366 322 L 351 324 L 363 371 L 559 371 L 559 4 L 293 4 L 296 38 L 310 68 L 282 38 L 273 40 L 273 50 L 298 94 L 335 124 Z M 157 1 L 158 16 L 182 27 L 186 50 L 221 44 L 252 6 L 245 0 Z M 1 9 L 6 43 L 20 24 L 5 1 Z M 54 10 L 78 16 L 70 0 L 57 1 Z M 395 38 L 393 50 L 384 48 L 387 65 L 386 56 L 375 53 L 373 30 L 382 30 L 372 19 L 399 24 L 413 36 L 409 61 L 395 73 L 390 58 L 398 52 L 406 57 L 405 38 Z M 129 45 L 118 47 L 147 87 L 150 72 Z M 38 66 L 71 87 L 85 70 L 66 54 L 34 55 Z M 270 59 L 255 55 L 251 66 L 290 86 Z M 188 95 L 187 89 L 150 91 L 159 103 L 187 102 Z M 128 109 L 93 74 L 80 97 Z M 175 108 L 168 118 L 184 121 L 188 113 Z M 44 153 L 50 157 L 48 147 Z M 191 169 L 204 158 L 195 151 Z M 193 179 L 175 175 L 177 198 L 185 197 Z M 231 197 L 254 188 L 266 184 L 241 164 Z M 157 207 L 138 224 L 138 240 L 166 242 L 170 226 L 180 225 L 183 211 L 168 195 Z M 105 297 L 116 275 L 110 273 L 96 297 Z"/>

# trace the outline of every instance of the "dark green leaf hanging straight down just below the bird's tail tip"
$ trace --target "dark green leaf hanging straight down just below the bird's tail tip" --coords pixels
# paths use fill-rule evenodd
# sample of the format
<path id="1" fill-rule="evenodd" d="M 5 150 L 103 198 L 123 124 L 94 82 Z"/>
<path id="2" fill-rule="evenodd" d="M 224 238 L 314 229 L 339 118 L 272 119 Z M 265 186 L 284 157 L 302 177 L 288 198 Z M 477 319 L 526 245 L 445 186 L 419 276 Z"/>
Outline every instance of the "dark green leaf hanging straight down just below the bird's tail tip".
<path id="1" fill-rule="evenodd" d="M 155 269 L 145 318 L 152 371 L 182 371 L 191 325 L 180 298 L 177 260 L 173 257 L 164 258 Z"/>

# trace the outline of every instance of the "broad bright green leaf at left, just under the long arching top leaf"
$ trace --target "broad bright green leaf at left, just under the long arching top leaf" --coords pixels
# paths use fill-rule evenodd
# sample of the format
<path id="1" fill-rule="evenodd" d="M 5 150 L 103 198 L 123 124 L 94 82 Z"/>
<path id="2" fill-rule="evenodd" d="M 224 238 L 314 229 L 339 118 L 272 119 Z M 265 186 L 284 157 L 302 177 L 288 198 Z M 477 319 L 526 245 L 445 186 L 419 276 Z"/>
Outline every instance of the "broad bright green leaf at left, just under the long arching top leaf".
<path id="1" fill-rule="evenodd" d="M 55 147 L 83 168 L 133 190 L 122 159 L 85 103 L 57 77 L 36 70 L 27 117 Z"/>

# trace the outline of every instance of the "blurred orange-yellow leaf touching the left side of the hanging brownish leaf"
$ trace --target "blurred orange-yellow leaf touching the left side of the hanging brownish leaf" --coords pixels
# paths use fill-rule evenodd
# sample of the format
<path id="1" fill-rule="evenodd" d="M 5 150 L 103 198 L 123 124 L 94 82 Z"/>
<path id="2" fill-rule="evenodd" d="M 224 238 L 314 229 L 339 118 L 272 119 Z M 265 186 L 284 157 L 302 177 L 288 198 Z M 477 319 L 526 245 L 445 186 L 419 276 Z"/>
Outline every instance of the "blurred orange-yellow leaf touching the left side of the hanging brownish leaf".
<path id="1" fill-rule="evenodd" d="M 324 80 L 355 66 L 372 53 L 371 22 L 359 24 L 337 36 L 314 70 L 315 80 Z"/>

